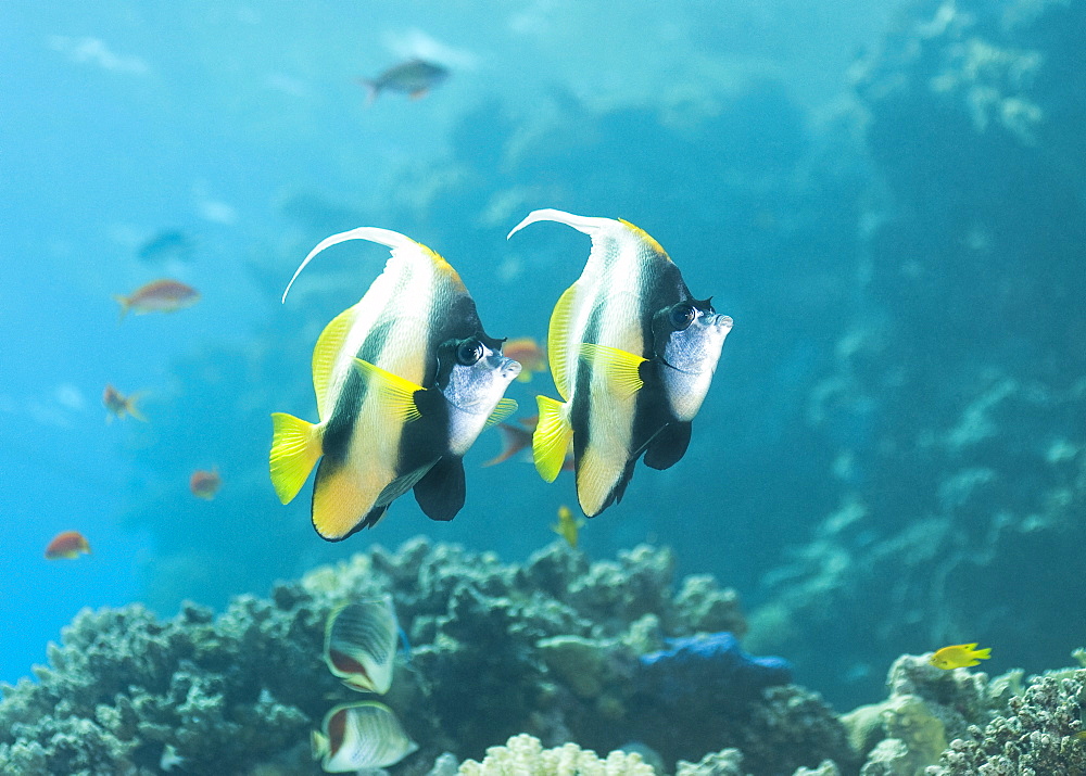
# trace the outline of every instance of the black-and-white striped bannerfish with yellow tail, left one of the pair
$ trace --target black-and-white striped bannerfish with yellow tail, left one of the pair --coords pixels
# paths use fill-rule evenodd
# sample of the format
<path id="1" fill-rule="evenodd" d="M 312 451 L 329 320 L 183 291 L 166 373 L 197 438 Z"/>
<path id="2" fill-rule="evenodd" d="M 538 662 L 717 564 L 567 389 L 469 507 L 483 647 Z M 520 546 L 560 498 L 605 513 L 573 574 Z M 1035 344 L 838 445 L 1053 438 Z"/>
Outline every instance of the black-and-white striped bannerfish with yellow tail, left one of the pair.
<path id="1" fill-rule="evenodd" d="M 310 252 L 291 284 L 314 256 L 346 240 L 387 245 L 392 256 L 317 339 L 319 422 L 272 415 L 276 493 L 289 503 L 319 459 L 312 518 L 330 542 L 376 525 L 412 489 L 429 518 L 452 520 L 465 499 L 462 458 L 485 425 L 516 410 L 503 395 L 520 372 L 502 355 L 502 341 L 483 332 L 456 270 L 399 232 L 333 234 Z"/>

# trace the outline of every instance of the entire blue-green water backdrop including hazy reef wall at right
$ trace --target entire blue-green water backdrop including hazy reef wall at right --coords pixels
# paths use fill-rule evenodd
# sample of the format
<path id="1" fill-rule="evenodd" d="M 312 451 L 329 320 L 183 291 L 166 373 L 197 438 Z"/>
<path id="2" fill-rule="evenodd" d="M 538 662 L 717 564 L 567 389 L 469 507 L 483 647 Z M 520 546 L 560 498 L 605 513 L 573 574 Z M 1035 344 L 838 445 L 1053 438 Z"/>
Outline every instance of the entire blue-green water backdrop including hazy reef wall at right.
<path id="1" fill-rule="evenodd" d="M 589 247 L 506 242 L 539 207 L 636 224 L 735 321 L 686 457 L 639 467 L 568 562 L 669 548 L 838 713 L 902 654 L 1035 674 L 1086 644 L 1086 2 L 111 0 L 0 28 L 0 679 L 85 607 L 223 611 L 419 535 L 565 557 L 571 479 L 483 468 L 494 431 L 454 521 L 403 498 L 343 543 L 267 472 L 269 414 L 314 417 L 317 334 L 387 258 L 329 251 L 281 304 L 317 242 L 403 232 L 488 333 L 543 342 Z M 357 79 L 416 56 L 447 79 L 367 104 Z M 164 277 L 199 303 L 118 325 Z M 106 422 L 106 384 L 147 422 Z M 67 530 L 91 555 L 45 559 Z"/>

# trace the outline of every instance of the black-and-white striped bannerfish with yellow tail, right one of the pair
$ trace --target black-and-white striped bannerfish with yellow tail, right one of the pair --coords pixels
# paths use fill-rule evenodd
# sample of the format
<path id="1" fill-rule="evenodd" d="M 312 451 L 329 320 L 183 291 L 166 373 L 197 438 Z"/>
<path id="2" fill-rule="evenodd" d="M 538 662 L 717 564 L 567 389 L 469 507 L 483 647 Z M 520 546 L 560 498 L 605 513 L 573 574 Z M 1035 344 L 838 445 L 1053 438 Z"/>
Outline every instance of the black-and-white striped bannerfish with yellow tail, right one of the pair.
<path id="1" fill-rule="evenodd" d="M 536 397 L 532 453 L 552 482 L 572 438 L 577 496 L 591 518 L 622 498 L 642 455 L 654 469 L 683 457 L 732 319 L 695 300 L 667 252 L 629 221 L 542 209 L 509 237 L 543 220 L 588 234 L 592 250 L 551 315 L 563 400 Z"/>

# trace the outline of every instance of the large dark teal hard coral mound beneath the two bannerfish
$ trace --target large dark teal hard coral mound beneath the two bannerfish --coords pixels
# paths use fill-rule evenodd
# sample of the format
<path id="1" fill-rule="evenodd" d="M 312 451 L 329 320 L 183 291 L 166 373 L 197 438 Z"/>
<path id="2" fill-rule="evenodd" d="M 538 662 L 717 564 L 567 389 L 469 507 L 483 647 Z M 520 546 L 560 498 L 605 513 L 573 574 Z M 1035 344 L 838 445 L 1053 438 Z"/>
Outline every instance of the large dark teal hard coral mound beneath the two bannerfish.
<path id="1" fill-rule="evenodd" d="M 85 611 L 38 684 L 3 688 L 0 772 L 142 775 L 168 751 L 185 773 L 318 773 L 310 732 L 358 699 L 321 661 L 325 623 L 342 602 L 384 593 L 413 646 L 383 700 L 421 748 L 399 773 L 422 773 L 442 751 L 482 756 L 519 733 L 596 751 L 636 738 L 668 763 L 737 746 L 755 774 L 847 762 L 843 728 L 799 688 L 736 679 L 743 700 L 724 704 L 711 665 L 670 685 L 636 680 L 639 658 L 668 638 L 743 628 L 732 591 L 699 578 L 675 596 L 672 577 L 671 554 L 645 546 L 590 564 L 556 543 L 508 565 L 416 539 L 277 585 L 270 600 L 242 596 L 218 618 L 192 605 L 168 621 L 137 605 Z M 717 684 L 697 692 L 689 682 Z M 683 728 L 664 712 L 670 695 L 686 699 Z"/>

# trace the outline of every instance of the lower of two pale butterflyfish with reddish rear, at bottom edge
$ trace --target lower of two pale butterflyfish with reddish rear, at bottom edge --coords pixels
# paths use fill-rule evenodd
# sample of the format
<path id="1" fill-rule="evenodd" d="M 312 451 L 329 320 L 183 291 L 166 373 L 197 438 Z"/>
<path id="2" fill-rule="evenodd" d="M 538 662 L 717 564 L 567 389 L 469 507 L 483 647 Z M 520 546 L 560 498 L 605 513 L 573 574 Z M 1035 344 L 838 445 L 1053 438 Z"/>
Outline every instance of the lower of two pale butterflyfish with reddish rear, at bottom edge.
<path id="1" fill-rule="evenodd" d="M 392 710 L 377 701 L 336 707 L 311 743 L 313 759 L 333 774 L 389 767 L 418 749 Z"/>

